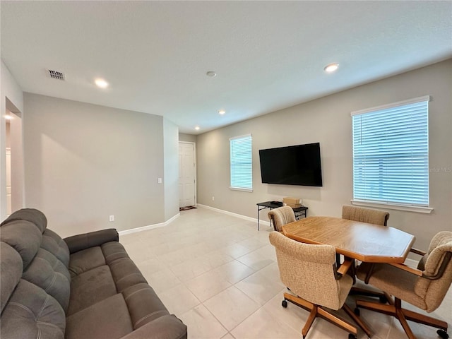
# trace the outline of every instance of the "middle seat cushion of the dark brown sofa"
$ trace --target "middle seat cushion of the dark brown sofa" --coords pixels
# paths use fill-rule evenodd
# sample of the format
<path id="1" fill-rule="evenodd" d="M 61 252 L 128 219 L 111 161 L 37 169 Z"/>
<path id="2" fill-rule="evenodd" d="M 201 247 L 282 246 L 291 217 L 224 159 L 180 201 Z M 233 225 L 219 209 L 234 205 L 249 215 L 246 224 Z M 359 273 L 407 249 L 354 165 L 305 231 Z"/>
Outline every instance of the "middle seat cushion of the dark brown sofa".
<path id="1" fill-rule="evenodd" d="M 117 294 L 108 266 L 100 266 L 76 275 L 71 280 L 68 316 Z"/>

